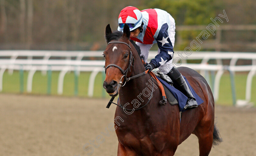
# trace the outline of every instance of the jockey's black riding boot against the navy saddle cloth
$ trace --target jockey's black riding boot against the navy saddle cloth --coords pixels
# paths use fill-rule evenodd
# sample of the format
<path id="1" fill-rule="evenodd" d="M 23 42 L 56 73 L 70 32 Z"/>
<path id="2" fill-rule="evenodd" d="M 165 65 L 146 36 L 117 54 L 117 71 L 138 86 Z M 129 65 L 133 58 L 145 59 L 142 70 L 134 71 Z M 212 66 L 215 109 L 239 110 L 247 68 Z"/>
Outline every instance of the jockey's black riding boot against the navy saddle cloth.
<path id="1" fill-rule="evenodd" d="M 188 99 L 185 105 L 185 109 L 197 107 L 198 105 L 196 99 L 194 98 L 191 90 L 187 85 L 187 82 L 185 81 L 181 73 L 175 67 L 173 67 L 172 70 L 166 75 L 174 81 L 173 85 L 175 86 L 175 88 L 180 90 L 184 95 L 187 96 Z"/>

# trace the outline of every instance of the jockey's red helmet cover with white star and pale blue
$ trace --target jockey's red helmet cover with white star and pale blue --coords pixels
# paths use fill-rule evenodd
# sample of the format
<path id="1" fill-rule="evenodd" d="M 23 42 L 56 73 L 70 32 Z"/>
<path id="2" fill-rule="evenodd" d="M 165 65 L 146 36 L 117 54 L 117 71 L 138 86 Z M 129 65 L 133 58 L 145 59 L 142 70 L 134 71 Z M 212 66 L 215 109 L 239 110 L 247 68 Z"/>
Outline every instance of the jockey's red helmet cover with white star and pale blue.
<path id="1" fill-rule="evenodd" d="M 143 21 L 142 14 L 139 9 L 133 6 L 127 6 L 123 10 L 121 10 L 118 17 L 118 30 L 123 31 L 124 24 L 126 23 L 130 31 L 135 30 L 136 28 L 141 26 Z"/>

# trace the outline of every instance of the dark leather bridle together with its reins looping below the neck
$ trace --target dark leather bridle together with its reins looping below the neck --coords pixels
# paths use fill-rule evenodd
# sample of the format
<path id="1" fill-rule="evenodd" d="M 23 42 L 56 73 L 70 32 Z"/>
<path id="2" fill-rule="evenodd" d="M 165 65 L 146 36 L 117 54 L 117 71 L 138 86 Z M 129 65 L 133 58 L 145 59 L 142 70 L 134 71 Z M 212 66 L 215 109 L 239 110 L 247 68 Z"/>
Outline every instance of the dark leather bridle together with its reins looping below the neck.
<path id="1" fill-rule="evenodd" d="M 107 68 L 108 68 L 108 67 L 111 67 L 111 66 L 114 66 L 114 67 L 120 69 L 120 71 L 123 73 L 123 76 L 121 77 L 121 80 L 120 80 L 120 82 L 119 82 L 122 87 L 126 84 L 127 81 L 132 80 L 132 79 L 134 79 L 134 78 L 136 78 L 136 77 L 139 77 L 139 76 L 142 76 L 142 75 L 145 75 L 145 74 L 148 73 L 148 70 L 146 70 L 146 71 L 144 71 L 143 73 L 137 74 L 137 75 L 132 76 L 132 77 L 129 77 L 129 78 L 127 79 L 126 76 L 127 76 L 127 73 L 128 73 L 128 69 L 129 69 L 130 72 L 131 72 L 130 67 L 132 66 L 132 67 L 134 68 L 134 57 L 133 57 L 133 54 L 132 54 L 132 51 L 131 51 L 130 44 L 127 44 L 127 43 L 121 42 L 121 41 L 112 41 L 112 42 L 108 42 L 108 44 L 110 44 L 110 43 L 126 44 L 126 45 L 130 48 L 129 64 L 128 64 L 128 68 L 127 68 L 126 70 L 123 70 L 120 66 L 118 66 L 118 65 L 116 65 L 116 64 L 109 64 L 108 66 L 105 67 L 105 73 L 106 73 Z M 123 80 L 124 84 L 123 84 L 123 82 L 122 82 L 122 78 L 123 78 L 123 77 L 124 77 L 124 80 Z M 150 76 L 150 77 L 151 77 L 151 80 L 152 80 L 152 83 L 153 83 L 152 76 Z M 122 85 L 122 84 L 123 84 L 123 85 Z M 154 91 L 153 88 L 154 88 L 154 87 L 152 87 L 151 95 L 153 95 L 153 91 Z M 113 104 L 115 104 L 115 105 L 121 107 L 122 109 L 125 109 L 125 110 L 132 110 L 132 109 L 124 108 L 124 107 L 121 105 L 120 102 L 119 102 L 120 105 L 114 103 L 114 102 L 113 102 L 114 98 L 115 98 L 115 97 L 112 97 L 112 98 L 110 99 L 110 101 L 108 102 L 108 105 L 107 105 L 106 108 L 109 108 L 110 105 L 113 103 Z M 151 98 L 148 100 L 148 102 L 147 102 L 144 106 L 142 106 L 142 107 L 140 107 L 140 108 L 137 108 L 137 109 L 134 109 L 134 111 L 135 111 L 135 110 L 138 110 L 138 109 L 141 109 L 141 108 L 145 107 L 146 105 L 148 105 L 148 103 L 149 103 L 150 100 L 151 100 Z"/>

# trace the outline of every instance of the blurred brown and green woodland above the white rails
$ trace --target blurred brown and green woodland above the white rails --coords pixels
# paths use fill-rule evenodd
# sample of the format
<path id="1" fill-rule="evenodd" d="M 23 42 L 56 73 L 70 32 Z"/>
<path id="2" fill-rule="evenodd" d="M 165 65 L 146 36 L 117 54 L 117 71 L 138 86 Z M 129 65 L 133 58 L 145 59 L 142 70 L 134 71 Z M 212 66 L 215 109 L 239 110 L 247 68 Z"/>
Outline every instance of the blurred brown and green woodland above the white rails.
<path id="1" fill-rule="evenodd" d="M 1 0 L 0 49 L 104 50 L 106 25 L 110 23 L 112 30 L 117 30 L 118 15 L 129 5 L 169 12 L 176 22 L 176 41 L 179 39 L 175 50 L 187 47 L 198 32 L 212 23 L 210 18 L 223 15 L 225 10 L 229 21 L 224 19 L 220 25 L 219 44 L 215 44 L 216 35 L 211 36 L 201 50 L 256 50 L 253 0 Z"/>

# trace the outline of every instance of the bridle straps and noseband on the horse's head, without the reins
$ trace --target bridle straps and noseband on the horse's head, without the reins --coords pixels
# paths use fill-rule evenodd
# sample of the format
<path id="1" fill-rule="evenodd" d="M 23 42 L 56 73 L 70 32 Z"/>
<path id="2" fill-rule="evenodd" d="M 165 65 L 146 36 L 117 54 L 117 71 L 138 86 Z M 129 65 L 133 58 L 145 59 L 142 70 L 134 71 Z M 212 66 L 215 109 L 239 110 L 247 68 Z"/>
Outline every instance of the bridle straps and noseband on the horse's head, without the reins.
<path id="1" fill-rule="evenodd" d="M 110 44 L 110 43 L 122 43 L 122 44 L 126 44 L 126 45 L 131 49 L 130 44 L 127 44 L 127 43 L 125 43 L 125 42 L 121 42 L 121 41 L 112 41 L 112 42 L 108 42 L 108 44 Z M 134 65 L 134 57 L 133 57 L 132 51 L 130 50 L 130 54 L 129 54 L 129 64 L 128 64 L 128 68 L 127 68 L 126 70 L 123 70 L 120 66 L 117 66 L 116 64 L 109 64 L 109 65 L 105 68 L 105 73 L 106 73 L 106 70 L 107 70 L 108 67 L 114 66 L 114 67 L 120 69 L 120 71 L 123 73 L 123 76 L 122 76 L 122 78 L 124 77 L 123 82 L 126 83 L 126 81 L 129 81 L 129 80 L 130 80 L 130 79 L 129 79 L 129 80 L 126 79 L 126 78 L 127 78 L 126 76 L 127 76 L 127 73 L 128 73 L 128 69 L 131 71 L 130 67 L 131 67 L 131 66 L 133 67 L 133 65 Z M 122 81 L 122 78 L 121 78 L 120 81 Z M 125 83 L 124 83 L 123 85 L 122 85 L 122 83 L 121 83 L 121 85 L 124 86 Z"/>

